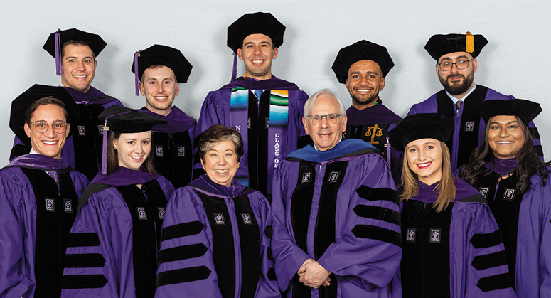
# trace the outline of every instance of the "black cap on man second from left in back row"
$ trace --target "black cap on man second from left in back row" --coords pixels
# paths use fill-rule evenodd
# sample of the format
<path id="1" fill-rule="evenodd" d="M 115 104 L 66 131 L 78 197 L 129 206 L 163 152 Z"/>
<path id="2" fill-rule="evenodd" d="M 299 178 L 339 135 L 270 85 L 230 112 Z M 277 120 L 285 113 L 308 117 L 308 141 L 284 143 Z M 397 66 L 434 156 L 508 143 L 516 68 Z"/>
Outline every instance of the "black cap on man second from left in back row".
<path id="1" fill-rule="evenodd" d="M 137 61 L 137 63 L 136 63 Z M 154 45 L 134 53 L 132 73 L 136 75 L 136 95 L 139 95 L 138 83 L 144 71 L 151 65 L 164 65 L 170 68 L 178 83 L 186 83 L 191 74 L 191 63 L 188 62 L 182 52 L 169 46 Z M 137 70 L 136 70 L 137 66 Z"/>

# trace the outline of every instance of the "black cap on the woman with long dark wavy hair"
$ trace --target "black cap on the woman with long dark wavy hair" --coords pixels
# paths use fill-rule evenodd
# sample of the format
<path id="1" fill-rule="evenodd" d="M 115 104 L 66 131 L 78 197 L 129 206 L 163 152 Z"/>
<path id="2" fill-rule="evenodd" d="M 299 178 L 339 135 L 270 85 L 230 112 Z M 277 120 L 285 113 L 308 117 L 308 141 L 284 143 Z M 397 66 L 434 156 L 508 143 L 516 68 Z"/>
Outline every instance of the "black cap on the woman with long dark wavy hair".
<path id="1" fill-rule="evenodd" d="M 530 100 L 486 100 L 474 106 L 473 110 L 486 123 L 491 117 L 510 115 L 519 117 L 528 127 L 530 121 L 542 112 L 542 107 L 539 103 Z"/>

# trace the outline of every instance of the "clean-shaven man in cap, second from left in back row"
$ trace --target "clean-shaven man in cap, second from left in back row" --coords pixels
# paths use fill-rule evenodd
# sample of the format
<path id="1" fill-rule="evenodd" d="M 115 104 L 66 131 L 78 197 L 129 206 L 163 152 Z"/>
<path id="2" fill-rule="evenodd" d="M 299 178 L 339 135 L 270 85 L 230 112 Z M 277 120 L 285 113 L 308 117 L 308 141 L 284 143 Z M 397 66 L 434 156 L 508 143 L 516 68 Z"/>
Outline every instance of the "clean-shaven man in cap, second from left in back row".
<path id="1" fill-rule="evenodd" d="M 173 105 L 191 74 L 191 63 L 180 50 L 154 45 L 134 54 L 132 72 L 137 92 L 146 97 L 147 113 L 164 119 L 166 124 L 151 128 L 155 166 L 174 188 L 191 182 L 193 169 L 193 137 L 196 121 Z M 153 153 L 151 153 L 153 154 Z"/>

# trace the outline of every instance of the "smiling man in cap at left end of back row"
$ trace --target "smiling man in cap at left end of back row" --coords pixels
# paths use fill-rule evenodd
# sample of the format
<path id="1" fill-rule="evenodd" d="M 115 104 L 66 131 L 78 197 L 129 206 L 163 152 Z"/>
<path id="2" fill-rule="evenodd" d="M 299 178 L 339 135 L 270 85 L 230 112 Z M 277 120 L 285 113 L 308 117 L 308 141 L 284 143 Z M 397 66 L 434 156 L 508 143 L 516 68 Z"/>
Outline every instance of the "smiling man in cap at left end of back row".
<path id="1" fill-rule="evenodd" d="M 73 134 L 63 147 L 65 162 L 88 179 L 92 180 L 100 171 L 102 156 L 102 127 L 97 116 L 112 105 L 122 103 L 92 87 L 97 66 L 97 55 L 107 43 L 97 34 L 72 28 L 51 33 L 44 43 L 46 50 L 55 58 L 56 73 L 61 76 L 61 84 L 77 103 L 79 118 Z M 16 139 L 10 159 L 27 154 L 29 147 L 22 146 Z"/>

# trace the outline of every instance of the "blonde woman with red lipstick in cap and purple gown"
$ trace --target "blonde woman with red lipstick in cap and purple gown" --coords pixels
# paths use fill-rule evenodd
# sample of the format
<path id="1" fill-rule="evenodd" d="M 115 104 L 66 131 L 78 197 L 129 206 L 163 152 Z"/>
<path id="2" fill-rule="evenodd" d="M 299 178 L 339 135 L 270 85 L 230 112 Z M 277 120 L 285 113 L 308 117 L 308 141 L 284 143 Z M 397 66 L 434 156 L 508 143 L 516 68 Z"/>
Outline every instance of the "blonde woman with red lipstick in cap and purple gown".
<path id="1" fill-rule="evenodd" d="M 515 297 L 496 220 L 480 193 L 451 172 L 453 121 L 411 115 L 389 132 L 405 151 L 398 186 L 403 297 Z"/>

